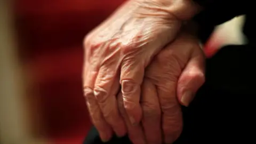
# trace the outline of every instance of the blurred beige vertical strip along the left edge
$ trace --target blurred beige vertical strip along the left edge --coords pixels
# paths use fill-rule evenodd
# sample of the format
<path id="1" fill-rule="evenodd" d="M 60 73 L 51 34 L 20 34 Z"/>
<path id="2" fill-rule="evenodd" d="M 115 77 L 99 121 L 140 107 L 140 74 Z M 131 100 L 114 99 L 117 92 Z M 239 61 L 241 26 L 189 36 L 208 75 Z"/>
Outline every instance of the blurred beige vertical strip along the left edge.
<path id="1" fill-rule="evenodd" d="M 30 137 L 12 16 L 11 1 L 0 0 L 0 143 L 27 144 Z"/>

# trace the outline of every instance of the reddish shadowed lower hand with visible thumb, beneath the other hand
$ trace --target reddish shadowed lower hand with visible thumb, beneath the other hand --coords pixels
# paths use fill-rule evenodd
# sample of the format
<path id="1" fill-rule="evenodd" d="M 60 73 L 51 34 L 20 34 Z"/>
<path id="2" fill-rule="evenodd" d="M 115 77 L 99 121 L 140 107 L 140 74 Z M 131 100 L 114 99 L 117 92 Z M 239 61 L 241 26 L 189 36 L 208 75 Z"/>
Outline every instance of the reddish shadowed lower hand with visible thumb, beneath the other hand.
<path id="1" fill-rule="evenodd" d="M 174 142 L 182 131 L 180 103 L 188 106 L 204 83 L 204 54 L 198 41 L 181 34 L 163 49 L 145 71 L 142 83 L 142 125 L 127 120 L 122 93 L 119 109 L 134 144 Z M 162 137 L 164 136 L 164 137 Z"/>

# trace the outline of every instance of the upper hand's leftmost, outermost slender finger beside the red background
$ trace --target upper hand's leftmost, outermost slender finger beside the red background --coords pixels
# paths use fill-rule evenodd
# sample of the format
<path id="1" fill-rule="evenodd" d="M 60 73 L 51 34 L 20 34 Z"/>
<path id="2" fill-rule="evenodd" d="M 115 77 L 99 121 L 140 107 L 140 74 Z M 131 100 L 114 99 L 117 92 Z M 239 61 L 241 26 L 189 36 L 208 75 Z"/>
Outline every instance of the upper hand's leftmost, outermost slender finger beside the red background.
<path id="1" fill-rule="evenodd" d="M 84 97 L 86 98 L 86 105 L 88 107 L 88 110 L 92 119 L 92 123 L 99 131 L 101 140 L 108 141 L 112 136 L 112 130 L 111 130 L 111 127 L 107 124 L 107 122 L 103 118 L 103 115 L 98 105 L 98 101 L 95 99 L 93 90 L 92 90 L 96 76 L 97 76 L 97 72 L 90 70 L 90 68 L 84 67 L 84 71 L 83 71 Z"/>

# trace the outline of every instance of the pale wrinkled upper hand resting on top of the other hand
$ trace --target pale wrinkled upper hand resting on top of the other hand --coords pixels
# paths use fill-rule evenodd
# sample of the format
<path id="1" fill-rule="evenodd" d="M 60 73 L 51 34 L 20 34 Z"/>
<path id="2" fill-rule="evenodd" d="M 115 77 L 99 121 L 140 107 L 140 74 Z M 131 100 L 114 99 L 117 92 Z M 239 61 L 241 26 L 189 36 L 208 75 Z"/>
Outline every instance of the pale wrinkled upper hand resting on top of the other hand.
<path id="1" fill-rule="evenodd" d="M 86 36 L 83 88 L 91 119 L 103 141 L 127 130 L 116 95 L 122 86 L 124 108 L 133 125 L 142 118 L 141 84 L 153 57 L 192 17 L 187 0 L 133 0 Z M 185 12 L 187 10 L 187 12 Z M 189 11 L 190 10 L 190 11 Z"/>

